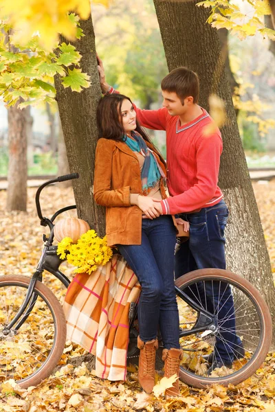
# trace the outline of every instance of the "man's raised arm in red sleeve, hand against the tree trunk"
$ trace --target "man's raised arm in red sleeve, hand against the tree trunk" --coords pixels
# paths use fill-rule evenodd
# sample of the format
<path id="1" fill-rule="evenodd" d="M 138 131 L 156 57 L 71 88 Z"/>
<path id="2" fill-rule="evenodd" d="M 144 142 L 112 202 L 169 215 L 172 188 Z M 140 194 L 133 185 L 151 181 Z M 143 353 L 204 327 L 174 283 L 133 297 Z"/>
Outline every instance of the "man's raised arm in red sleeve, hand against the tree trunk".
<path id="1" fill-rule="evenodd" d="M 102 60 L 98 58 L 98 73 L 100 79 L 100 87 L 103 94 L 107 93 L 119 93 L 106 81 L 105 71 Z M 137 113 L 137 120 L 141 126 L 150 128 L 152 130 L 166 130 L 166 117 L 168 112 L 165 107 L 158 110 L 142 110 L 133 104 L 135 112 Z"/>

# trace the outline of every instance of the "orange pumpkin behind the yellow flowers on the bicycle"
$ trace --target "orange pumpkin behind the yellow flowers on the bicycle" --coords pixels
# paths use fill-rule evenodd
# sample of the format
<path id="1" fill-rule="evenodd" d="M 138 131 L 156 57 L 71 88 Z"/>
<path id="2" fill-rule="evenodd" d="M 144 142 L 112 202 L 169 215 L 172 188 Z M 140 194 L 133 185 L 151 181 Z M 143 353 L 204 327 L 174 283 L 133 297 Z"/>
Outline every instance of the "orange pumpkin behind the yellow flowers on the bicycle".
<path id="1" fill-rule="evenodd" d="M 73 243 L 76 243 L 83 233 L 86 233 L 90 229 L 85 220 L 78 218 L 64 218 L 59 220 L 54 226 L 54 237 L 58 242 L 67 236 L 72 239 Z"/>

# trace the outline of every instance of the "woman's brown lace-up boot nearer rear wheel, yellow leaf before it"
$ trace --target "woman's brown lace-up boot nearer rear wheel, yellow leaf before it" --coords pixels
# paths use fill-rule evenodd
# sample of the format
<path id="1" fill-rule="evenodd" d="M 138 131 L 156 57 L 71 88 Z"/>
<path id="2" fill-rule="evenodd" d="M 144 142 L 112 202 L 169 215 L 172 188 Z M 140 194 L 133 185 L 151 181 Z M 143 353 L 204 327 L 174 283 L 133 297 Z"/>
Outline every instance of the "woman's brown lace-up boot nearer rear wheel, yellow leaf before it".
<path id="1" fill-rule="evenodd" d="M 162 352 L 162 361 L 164 361 L 164 376 L 170 378 L 170 376 L 179 376 L 179 364 L 182 359 L 183 352 L 181 349 L 164 349 Z M 179 396 L 179 379 L 177 379 L 173 386 L 166 389 L 165 394 L 167 396 Z"/>

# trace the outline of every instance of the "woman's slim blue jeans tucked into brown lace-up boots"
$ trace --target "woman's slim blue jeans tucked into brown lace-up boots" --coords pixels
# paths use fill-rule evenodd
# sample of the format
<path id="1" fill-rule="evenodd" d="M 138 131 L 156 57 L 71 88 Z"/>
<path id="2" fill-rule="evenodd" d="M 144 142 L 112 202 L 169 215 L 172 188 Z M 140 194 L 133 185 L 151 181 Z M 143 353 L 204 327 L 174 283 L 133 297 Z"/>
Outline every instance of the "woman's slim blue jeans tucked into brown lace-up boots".
<path id="1" fill-rule="evenodd" d="M 176 231 L 171 216 L 142 220 L 142 244 L 118 244 L 142 286 L 138 304 L 140 339 L 151 341 L 159 325 L 166 349 L 179 349 L 179 312 L 174 286 Z"/>

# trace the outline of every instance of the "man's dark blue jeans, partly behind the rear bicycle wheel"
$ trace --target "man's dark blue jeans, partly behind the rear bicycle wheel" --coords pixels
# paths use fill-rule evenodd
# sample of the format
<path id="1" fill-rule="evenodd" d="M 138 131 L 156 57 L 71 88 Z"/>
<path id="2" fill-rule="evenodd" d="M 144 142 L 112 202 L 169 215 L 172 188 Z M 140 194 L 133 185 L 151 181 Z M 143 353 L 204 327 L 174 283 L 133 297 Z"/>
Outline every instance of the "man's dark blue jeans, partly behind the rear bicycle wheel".
<path id="1" fill-rule="evenodd" d="M 225 202 L 220 201 L 212 207 L 203 207 L 196 213 L 180 214 L 179 217 L 190 223 L 190 238 L 181 244 L 175 254 L 176 279 L 197 269 L 225 269 L 224 229 L 228 220 L 228 207 Z M 236 335 L 234 302 L 230 286 L 221 285 L 217 282 L 205 282 L 206 297 L 208 297 L 206 304 L 208 310 L 213 306 L 217 310 L 220 300 L 219 310 L 217 310 L 218 321 L 223 318 L 228 320 L 222 325 L 224 332 L 220 332 L 216 337 L 214 353 L 217 360 L 232 362 L 234 354 L 239 352 L 241 339 Z M 204 292 L 201 295 L 203 296 Z"/>

